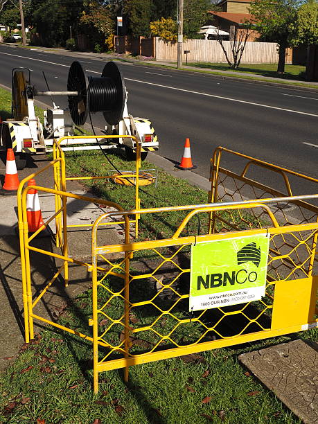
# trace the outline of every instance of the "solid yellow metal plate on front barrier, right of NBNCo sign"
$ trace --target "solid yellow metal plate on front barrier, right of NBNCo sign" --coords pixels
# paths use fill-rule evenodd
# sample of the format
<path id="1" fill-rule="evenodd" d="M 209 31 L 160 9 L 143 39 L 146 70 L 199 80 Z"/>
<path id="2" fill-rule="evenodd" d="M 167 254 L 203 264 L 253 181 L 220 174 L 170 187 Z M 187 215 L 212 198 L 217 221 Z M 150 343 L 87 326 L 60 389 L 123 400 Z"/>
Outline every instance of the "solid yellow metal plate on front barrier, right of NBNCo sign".
<path id="1" fill-rule="evenodd" d="M 276 281 L 272 330 L 313 321 L 312 305 L 316 303 L 317 281 L 317 276 Z"/>

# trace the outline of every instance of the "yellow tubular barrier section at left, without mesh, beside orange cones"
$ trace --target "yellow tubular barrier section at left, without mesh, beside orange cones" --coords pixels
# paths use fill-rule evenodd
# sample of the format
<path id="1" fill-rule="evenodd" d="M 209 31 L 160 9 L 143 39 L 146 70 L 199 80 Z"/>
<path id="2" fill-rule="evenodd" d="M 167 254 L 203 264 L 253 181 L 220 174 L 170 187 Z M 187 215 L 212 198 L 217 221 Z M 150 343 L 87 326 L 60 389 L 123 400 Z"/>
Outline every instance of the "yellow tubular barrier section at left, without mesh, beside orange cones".
<path id="1" fill-rule="evenodd" d="M 118 136 L 98 136 L 98 139 L 114 139 Z M 134 136 L 121 136 L 123 138 L 131 138 L 136 141 Z M 68 199 L 76 199 L 82 200 L 83 202 L 91 202 L 98 203 L 103 206 L 111 206 L 114 209 L 122 210 L 121 206 L 114 202 L 109 202 L 106 200 L 98 199 L 96 197 L 89 197 L 84 195 L 76 195 L 73 193 L 67 192 L 67 181 L 77 180 L 77 179 L 110 179 L 111 176 L 105 177 L 67 177 L 66 168 L 65 168 L 65 157 L 64 152 L 60 148 L 60 144 L 68 139 L 96 139 L 96 136 L 66 136 L 60 140 L 53 141 L 53 161 L 51 161 L 48 165 L 44 166 L 37 172 L 29 175 L 24 178 L 20 184 L 17 191 L 17 206 L 18 206 L 18 229 L 19 229 L 19 242 L 20 242 L 20 251 L 21 251 L 21 273 L 22 273 L 22 291 L 23 291 L 23 303 L 24 303 L 24 328 L 25 328 L 25 339 L 26 343 L 33 339 L 34 337 L 34 325 L 33 319 L 39 319 L 40 321 L 46 322 L 46 324 L 51 324 L 57 328 L 61 328 L 63 330 L 68 331 L 69 333 L 80 335 L 80 337 L 85 337 L 86 339 L 91 339 L 88 335 L 82 335 L 71 328 L 67 328 L 64 326 L 60 326 L 56 322 L 48 321 L 44 317 L 39 317 L 39 315 L 35 315 L 33 309 L 37 305 L 40 299 L 44 296 L 44 294 L 48 291 L 51 285 L 57 281 L 58 277 L 64 274 L 64 283 L 67 287 L 69 281 L 69 263 L 76 263 L 77 265 L 82 265 L 87 267 L 87 270 L 91 272 L 91 263 L 84 263 L 80 260 L 76 260 L 74 258 L 69 257 L 69 245 L 67 238 L 67 229 L 73 227 L 92 227 L 91 224 L 68 224 L 67 222 L 67 200 Z M 139 199 L 139 169 L 141 166 L 141 147 L 140 144 L 136 141 L 136 173 L 132 175 L 134 177 L 134 182 L 136 186 L 136 200 L 135 200 L 135 208 L 138 209 L 140 205 Z M 53 168 L 53 187 L 42 187 L 42 186 L 26 186 L 26 184 L 37 177 L 37 175 L 44 173 L 46 170 L 50 170 Z M 26 209 L 26 197 L 28 192 L 32 189 L 35 189 L 39 192 L 48 193 L 54 195 L 55 197 L 55 213 L 46 220 L 44 225 L 40 227 L 35 233 L 28 233 L 28 219 L 27 219 L 27 209 Z M 134 215 L 135 219 L 130 220 L 130 224 L 135 224 L 135 231 L 138 234 L 138 215 Z M 125 223 L 128 218 L 124 217 L 123 222 L 116 222 L 116 224 Z M 31 242 L 43 231 L 48 225 L 55 221 L 55 229 L 56 229 L 56 246 L 60 247 L 62 254 L 56 254 L 53 251 L 47 251 L 44 249 L 39 249 L 34 245 L 31 245 Z M 103 225 L 110 225 L 112 222 L 104 222 Z M 125 238 L 127 239 L 127 234 L 125 234 Z M 33 299 L 32 292 L 32 281 L 31 281 L 31 270 L 30 270 L 30 251 L 35 251 L 40 254 L 44 254 L 46 256 L 51 256 L 52 258 L 62 260 L 62 266 L 59 270 L 54 274 L 51 281 L 48 282 L 46 287 L 42 290 L 42 292 Z M 91 339 L 92 340 L 92 339 Z"/>

